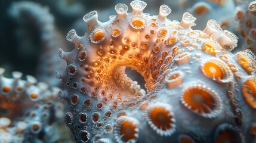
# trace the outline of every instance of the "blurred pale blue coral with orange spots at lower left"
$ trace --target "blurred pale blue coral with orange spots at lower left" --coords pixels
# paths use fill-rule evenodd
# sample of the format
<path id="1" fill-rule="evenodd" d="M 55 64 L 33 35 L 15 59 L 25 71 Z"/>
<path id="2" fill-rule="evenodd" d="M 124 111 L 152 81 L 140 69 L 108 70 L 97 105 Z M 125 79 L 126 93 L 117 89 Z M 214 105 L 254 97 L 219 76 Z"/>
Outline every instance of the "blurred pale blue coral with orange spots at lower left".
<path id="1" fill-rule="evenodd" d="M 55 142 L 60 139 L 57 120 L 63 103 L 56 101 L 60 89 L 48 89 L 35 77 L 21 80 L 22 73 L 4 77 L 0 68 L 0 142 Z"/>

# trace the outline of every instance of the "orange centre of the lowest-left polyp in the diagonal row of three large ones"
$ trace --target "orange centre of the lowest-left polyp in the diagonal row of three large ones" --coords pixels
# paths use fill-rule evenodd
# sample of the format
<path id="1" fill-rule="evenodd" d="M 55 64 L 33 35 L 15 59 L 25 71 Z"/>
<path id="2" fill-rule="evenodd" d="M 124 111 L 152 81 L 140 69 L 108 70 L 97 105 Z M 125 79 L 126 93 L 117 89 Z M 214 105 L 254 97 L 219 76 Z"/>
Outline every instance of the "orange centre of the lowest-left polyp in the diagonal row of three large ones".
<path id="1" fill-rule="evenodd" d="M 124 121 L 122 122 L 120 128 L 120 135 L 122 136 L 122 141 L 128 142 L 130 139 L 136 139 L 135 134 L 137 126 L 133 125 L 132 122 Z"/>

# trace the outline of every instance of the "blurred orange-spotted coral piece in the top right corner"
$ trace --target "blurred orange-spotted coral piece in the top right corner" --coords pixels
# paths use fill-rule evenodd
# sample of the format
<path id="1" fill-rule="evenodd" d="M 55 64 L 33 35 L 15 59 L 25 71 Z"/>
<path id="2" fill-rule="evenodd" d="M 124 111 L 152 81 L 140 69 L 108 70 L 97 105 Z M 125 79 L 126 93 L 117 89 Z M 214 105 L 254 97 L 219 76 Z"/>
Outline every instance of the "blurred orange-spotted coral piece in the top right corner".
<path id="1" fill-rule="evenodd" d="M 256 53 L 256 1 L 236 1 L 235 21 L 239 22 L 241 38 L 244 39 L 242 49 L 251 49 Z"/>

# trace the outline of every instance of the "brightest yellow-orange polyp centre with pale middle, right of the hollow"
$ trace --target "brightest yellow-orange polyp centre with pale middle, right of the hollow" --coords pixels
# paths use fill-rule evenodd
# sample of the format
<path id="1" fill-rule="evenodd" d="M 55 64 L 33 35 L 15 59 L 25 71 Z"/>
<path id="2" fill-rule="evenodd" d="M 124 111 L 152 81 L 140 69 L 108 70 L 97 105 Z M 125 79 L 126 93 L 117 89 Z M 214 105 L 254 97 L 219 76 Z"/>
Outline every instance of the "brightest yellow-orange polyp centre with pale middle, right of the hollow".
<path id="1" fill-rule="evenodd" d="M 217 78 L 223 79 L 224 78 L 223 71 L 215 63 L 210 63 L 210 62 L 206 63 L 203 66 L 202 70 L 205 72 L 205 74 L 207 76 L 211 77 L 212 79 L 217 79 Z"/>

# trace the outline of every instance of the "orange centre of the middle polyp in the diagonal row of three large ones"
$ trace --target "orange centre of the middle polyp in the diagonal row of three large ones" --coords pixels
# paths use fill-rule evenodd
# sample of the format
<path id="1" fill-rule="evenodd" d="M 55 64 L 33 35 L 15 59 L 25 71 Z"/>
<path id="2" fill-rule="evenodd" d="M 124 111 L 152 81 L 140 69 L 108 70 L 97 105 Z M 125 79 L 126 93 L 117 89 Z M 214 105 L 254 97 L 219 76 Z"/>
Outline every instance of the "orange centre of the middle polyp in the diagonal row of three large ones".
<path id="1" fill-rule="evenodd" d="M 165 108 L 155 107 L 150 110 L 149 117 L 158 129 L 168 130 L 172 128 L 172 116 L 168 116 L 168 114 L 169 111 L 166 111 Z"/>

